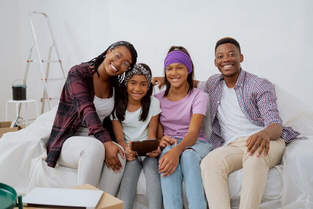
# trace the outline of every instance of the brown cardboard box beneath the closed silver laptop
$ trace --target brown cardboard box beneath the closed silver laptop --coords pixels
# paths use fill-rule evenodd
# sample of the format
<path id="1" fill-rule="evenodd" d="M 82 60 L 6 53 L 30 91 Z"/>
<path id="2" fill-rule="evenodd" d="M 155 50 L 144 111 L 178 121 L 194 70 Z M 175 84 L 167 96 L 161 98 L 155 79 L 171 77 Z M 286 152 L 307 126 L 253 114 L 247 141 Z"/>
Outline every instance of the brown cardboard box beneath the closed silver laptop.
<path id="1" fill-rule="evenodd" d="M 91 186 L 90 184 L 83 184 L 79 186 L 73 186 L 71 188 L 79 188 L 79 189 L 97 189 L 94 186 Z M 22 199 L 23 201 L 23 199 Z M 49 209 L 48 207 L 27 207 L 23 206 L 24 209 Z M 51 208 L 51 209 L 55 209 Z M 58 207 L 58 209 L 61 209 L 61 207 Z M 64 208 L 66 209 L 66 208 Z M 123 201 L 112 196 L 109 193 L 103 192 L 103 195 L 101 196 L 98 204 L 96 205 L 96 209 L 123 209 Z"/>

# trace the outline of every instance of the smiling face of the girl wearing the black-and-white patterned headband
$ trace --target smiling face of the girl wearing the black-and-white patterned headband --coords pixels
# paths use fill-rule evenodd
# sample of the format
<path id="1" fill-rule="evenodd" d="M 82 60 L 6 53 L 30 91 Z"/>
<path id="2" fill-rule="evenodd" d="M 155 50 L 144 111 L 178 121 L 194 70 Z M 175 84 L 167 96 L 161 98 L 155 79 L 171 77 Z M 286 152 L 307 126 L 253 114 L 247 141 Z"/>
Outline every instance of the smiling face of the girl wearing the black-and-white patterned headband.
<path id="1" fill-rule="evenodd" d="M 128 100 L 141 101 L 148 91 L 148 82 L 144 75 L 133 75 L 127 83 Z"/>

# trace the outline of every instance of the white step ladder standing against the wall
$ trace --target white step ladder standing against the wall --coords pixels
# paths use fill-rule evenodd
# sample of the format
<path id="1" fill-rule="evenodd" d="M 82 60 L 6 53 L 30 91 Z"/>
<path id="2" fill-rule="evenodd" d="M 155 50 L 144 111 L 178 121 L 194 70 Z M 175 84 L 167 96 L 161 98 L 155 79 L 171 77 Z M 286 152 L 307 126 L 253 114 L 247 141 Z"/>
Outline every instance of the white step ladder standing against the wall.
<path id="1" fill-rule="evenodd" d="M 49 47 L 48 57 L 47 57 L 46 60 L 42 60 L 41 59 L 41 55 L 40 55 L 39 48 L 38 48 L 38 42 L 37 42 L 35 30 L 34 30 L 33 18 L 38 17 L 38 16 L 43 16 L 44 19 L 46 20 L 46 23 L 47 23 L 47 26 L 48 26 L 48 30 L 49 30 L 49 34 L 51 36 L 50 38 L 52 40 L 52 44 Z M 26 82 L 30 63 L 33 63 L 33 62 L 39 63 L 39 68 L 40 68 L 40 73 L 41 73 L 41 80 L 42 80 L 42 85 L 43 85 L 43 95 L 42 95 L 42 98 L 40 99 L 41 100 L 41 111 L 40 111 L 40 114 L 42 114 L 44 112 L 45 101 L 47 101 L 48 109 L 51 110 L 50 100 L 52 100 L 52 99 L 59 99 L 59 97 L 50 97 L 49 96 L 47 82 L 48 81 L 65 80 L 66 76 L 65 76 L 65 73 L 64 73 L 64 70 L 63 70 L 63 67 L 62 67 L 61 60 L 59 58 L 58 51 L 57 51 L 56 46 L 55 46 L 55 41 L 54 41 L 54 38 L 53 38 L 53 35 L 52 35 L 51 26 L 50 26 L 50 23 L 49 23 L 48 16 L 46 14 L 44 14 L 44 13 L 31 12 L 31 13 L 29 13 L 29 21 L 30 21 L 30 26 L 31 26 L 32 36 L 33 36 L 33 45 L 29 48 L 28 58 L 27 58 L 27 63 L 26 63 L 26 69 L 25 69 L 25 74 L 24 74 L 24 81 Z M 54 48 L 54 51 L 56 53 L 56 57 L 57 57 L 56 60 L 51 60 L 51 54 L 52 54 L 52 49 L 53 48 Z M 36 51 L 38 60 L 32 60 L 31 59 L 31 55 L 32 55 L 32 50 L 33 49 L 35 49 L 35 51 Z M 45 72 L 43 70 L 43 63 L 46 63 Z M 59 67 L 60 67 L 60 70 L 61 70 L 61 73 L 62 73 L 62 77 L 53 78 L 53 79 L 49 79 L 48 78 L 49 69 L 50 69 L 50 63 L 59 63 Z"/>

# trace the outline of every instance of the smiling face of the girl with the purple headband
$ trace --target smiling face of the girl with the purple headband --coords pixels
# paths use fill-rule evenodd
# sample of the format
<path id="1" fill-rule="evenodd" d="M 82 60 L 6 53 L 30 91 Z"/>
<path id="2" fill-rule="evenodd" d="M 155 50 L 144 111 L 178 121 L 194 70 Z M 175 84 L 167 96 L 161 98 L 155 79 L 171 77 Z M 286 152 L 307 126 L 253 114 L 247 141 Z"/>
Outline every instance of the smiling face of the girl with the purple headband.
<path id="1" fill-rule="evenodd" d="M 187 67 L 180 63 L 172 63 L 165 68 L 166 79 L 171 87 L 187 85 L 188 70 Z"/>

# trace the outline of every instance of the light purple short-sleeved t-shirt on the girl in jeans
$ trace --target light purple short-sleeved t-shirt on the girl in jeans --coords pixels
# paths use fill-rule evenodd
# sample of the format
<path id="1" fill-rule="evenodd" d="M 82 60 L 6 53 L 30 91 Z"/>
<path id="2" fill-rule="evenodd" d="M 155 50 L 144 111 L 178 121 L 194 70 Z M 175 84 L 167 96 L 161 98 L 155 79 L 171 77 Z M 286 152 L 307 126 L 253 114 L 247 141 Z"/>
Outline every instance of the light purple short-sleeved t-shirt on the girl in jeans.
<path id="1" fill-rule="evenodd" d="M 160 101 L 162 112 L 159 114 L 160 123 L 164 129 L 164 135 L 171 138 L 183 138 L 188 133 L 192 114 L 205 116 L 207 96 L 198 89 L 193 88 L 192 93 L 179 101 L 169 101 L 163 97 L 164 91 L 155 95 Z M 197 140 L 207 141 L 202 128 Z"/>

